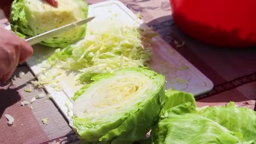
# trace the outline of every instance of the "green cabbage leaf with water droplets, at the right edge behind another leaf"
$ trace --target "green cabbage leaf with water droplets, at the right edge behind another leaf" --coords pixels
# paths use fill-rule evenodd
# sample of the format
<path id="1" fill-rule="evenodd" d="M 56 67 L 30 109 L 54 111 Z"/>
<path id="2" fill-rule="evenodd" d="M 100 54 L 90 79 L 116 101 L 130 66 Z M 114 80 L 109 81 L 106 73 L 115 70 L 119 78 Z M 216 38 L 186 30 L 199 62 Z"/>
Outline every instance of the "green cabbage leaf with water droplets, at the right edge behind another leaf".
<path id="1" fill-rule="evenodd" d="M 256 112 L 252 109 L 235 107 L 234 102 L 230 102 L 226 107 L 200 109 L 199 114 L 230 131 L 242 133 L 247 141 L 256 139 Z"/>

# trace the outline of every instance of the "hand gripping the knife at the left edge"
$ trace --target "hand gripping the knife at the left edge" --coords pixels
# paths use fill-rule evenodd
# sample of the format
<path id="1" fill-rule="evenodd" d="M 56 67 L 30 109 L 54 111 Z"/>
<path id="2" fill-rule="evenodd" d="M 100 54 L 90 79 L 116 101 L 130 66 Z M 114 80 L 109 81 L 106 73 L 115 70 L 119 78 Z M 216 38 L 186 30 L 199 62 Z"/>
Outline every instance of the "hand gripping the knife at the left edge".
<path id="1" fill-rule="evenodd" d="M 32 54 L 33 48 L 25 40 L 0 27 L 0 81 L 8 80 Z"/>

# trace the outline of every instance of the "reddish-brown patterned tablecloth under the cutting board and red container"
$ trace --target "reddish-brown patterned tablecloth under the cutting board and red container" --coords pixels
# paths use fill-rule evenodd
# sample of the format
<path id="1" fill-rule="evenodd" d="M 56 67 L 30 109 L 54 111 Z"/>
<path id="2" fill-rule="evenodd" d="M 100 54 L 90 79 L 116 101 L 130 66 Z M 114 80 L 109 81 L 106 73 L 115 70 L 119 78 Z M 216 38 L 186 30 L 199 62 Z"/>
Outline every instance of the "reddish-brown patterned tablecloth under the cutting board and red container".
<path id="1" fill-rule="evenodd" d="M 103 0 L 86 0 L 88 4 Z M 224 105 L 235 101 L 238 106 L 256 109 L 256 48 L 228 49 L 216 48 L 193 40 L 176 27 L 168 0 L 121 0 L 135 13 L 140 12 L 142 19 L 163 39 L 176 48 L 174 41 L 185 42 L 176 48 L 181 55 L 209 77 L 214 88 L 209 93 L 197 97 L 199 107 L 209 105 Z M 0 27 L 8 24 L 7 19 L 0 13 Z M 20 71 L 26 73 L 22 78 L 13 81 L 13 85 L 0 87 L 0 144 L 76 144 L 77 136 L 69 127 L 67 120 L 61 114 L 53 101 L 38 99 L 28 106 L 21 107 L 20 102 L 30 100 L 43 89 L 24 92 L 24 85 L 33 75 L 29 68 L 20 65 L 14 75 Z M 15 123 L 7 125 L 5 114 L 11 114 Z M 48 125 L 41 120 L 48 118 Z"/>

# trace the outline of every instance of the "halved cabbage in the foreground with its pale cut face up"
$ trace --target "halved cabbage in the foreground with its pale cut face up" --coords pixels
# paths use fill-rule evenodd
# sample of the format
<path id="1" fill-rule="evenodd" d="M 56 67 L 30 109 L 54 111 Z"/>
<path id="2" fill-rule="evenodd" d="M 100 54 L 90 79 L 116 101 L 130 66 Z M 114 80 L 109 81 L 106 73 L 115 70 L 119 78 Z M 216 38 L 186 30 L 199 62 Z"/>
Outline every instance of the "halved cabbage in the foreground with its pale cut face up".
<path id="1" fill-rule="evenodd" d="M 80 139 L 112 143 L 143 139 L 163 105 L 164 76 L 125 68 L 92 80 L 75 93 L 72 127 Z"/>

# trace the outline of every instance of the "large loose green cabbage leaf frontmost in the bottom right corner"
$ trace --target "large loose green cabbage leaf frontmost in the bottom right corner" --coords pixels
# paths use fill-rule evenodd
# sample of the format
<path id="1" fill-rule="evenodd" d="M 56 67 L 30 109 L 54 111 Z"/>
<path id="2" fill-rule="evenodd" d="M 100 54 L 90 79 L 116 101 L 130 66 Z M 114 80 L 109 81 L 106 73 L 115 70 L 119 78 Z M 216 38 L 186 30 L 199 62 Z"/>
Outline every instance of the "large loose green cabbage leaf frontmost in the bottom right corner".
<path id="1" fill-rule="evenodd" d="M 241 133 L 197 114 L 190 102 L 165 111 L 151 136 L 154 144 L 252 144 L 243 141 Z"/>

